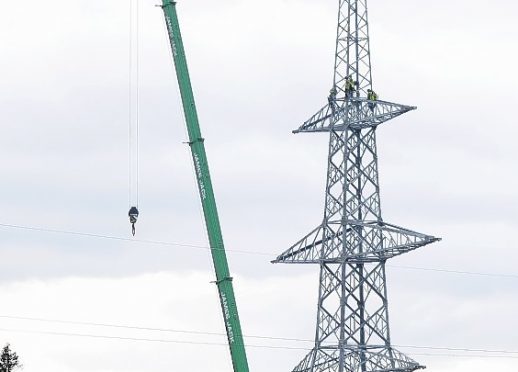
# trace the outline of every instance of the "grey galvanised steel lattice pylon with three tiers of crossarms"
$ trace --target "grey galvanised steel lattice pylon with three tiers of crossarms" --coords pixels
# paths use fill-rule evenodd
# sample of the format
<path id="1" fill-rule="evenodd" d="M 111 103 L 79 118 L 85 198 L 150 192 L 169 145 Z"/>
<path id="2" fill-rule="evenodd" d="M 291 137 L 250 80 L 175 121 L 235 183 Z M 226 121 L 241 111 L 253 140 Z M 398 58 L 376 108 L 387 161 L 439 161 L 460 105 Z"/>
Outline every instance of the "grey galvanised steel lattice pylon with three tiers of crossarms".
<path id="1" fill-rule="evenodd" d="M 383 221 L 376 151 L 377 126 L 415 107 L 369 100 L 369 89 L 367 1 L 339 0 L 332 93 L 294 131 L 330 134 L 324 219 L 273 261 L 320 265 L 315 347 L 294 372 L 424 368 L 391 346 L 385 262 L 439 239 Z"/>

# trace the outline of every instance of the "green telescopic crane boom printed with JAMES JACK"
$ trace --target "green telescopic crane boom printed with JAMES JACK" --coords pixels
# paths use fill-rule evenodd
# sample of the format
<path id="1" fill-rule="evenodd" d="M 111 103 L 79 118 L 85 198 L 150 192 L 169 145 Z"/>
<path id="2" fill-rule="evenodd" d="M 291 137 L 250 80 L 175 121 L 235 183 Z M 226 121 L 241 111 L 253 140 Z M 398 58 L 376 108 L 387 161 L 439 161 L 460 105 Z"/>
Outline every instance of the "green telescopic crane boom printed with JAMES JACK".
<path id="1" fill-rule="evenodd" d="M 214 198 L 214 191 L 212 189 L 212 182 L 209 174 L 207 154 L 205 153 L 203 137 L 201 136 L 200 125 L 198 122 L 198 114 L 194 103 L 191 79 L 187 69 L 187 60 L 185 58 L 185 50 L 183 47 L 182 36 L 180 34 L 180 25 L 176 14 L 176 2 L 171 0 L 162 0 L 162 9 L 164 10 L 174 64 L 176 67 L 176 76 L 178 78 L 178 85 L 180 86 L 180 93 L 182 96 L 185 121 L 187 124 L 187 131 L 189 133 L 189 145 L 194 162 L 196 179 L 198 181 L 203 214 L 205 216 L 205 225 L 209 236 L 212 260 L 216 270 L 216 284 L 218 286 L 221 309 L 225 320 L 232 364 L 234 366 L 234 372 L 248 372 L 248 362 L 243 343 L 243 334 L 237 312 L 232 278 L 230 276 L 227 256 L 223 245 L 223 236 L 221 235 L 221 226 L 219 223 L 216 200 Z"/>

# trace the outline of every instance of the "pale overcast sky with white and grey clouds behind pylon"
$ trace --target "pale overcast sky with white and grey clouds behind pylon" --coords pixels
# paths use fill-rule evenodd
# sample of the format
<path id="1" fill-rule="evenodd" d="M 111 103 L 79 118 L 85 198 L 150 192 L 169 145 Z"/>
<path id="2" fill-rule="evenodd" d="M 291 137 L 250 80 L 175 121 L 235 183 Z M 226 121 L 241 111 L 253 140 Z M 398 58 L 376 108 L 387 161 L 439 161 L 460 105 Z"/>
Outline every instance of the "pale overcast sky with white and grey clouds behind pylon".
<path id="1" fill-rule="evenodd" d="M 136 238 L 205 246 L 157 2 L 141 1 Z M 336 8 L 178 2 L 248 336 L 314 335 L 318 267 L 270 260 L 322 217 L 327 136 L 291 131 L 326 102 Z M 517 276 L 408 268 L 518 275 L 517 15 L 508 0 L 369 2 L 374 87 L 418 106 L 378 130 L 383 216 L 443 238 L 388 263 L 393 343 L 429 371 L 518 370 Z M 128 30 L 128 0 L 0 1 L 0 224 L 131 238 Z M 0 345 L 12 344 L 25 372 L 231 370 L 223 336 L 5 318 L 222 333 L 207 250 L 1 225 L 0 234 Z M 290 371 L 311 347 L 246 342 L 252 371 Z"/>

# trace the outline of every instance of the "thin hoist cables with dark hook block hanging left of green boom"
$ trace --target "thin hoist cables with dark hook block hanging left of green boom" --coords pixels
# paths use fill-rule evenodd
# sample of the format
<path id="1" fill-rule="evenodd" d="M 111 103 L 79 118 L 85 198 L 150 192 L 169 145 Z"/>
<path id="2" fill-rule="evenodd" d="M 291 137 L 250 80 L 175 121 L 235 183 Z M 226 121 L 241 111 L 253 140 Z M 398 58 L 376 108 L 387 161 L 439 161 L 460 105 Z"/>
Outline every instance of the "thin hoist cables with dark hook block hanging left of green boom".
<path id="1" fill-rule="evenodd" d="M 128 68 L 128 217 L 131 233 L 135 236 L 135 224 L 139 216 L 139 2 L 129 1 L 129 68 Z"/>

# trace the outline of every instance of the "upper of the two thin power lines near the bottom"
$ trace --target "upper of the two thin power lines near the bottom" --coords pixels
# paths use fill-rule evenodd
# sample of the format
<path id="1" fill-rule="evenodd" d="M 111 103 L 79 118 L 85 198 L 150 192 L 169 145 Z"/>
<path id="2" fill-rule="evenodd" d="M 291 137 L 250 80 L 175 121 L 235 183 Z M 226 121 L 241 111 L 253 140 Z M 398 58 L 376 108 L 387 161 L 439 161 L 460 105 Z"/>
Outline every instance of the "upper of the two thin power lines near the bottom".
<path id="1" fill-rule="evenodd" d="M 22 317 L 22 316 L 13 316 L 13 315 L 0 315 L 0 318 L 58 323 L 58 324 L 74 324 L 74 325 L 86 325 L 86 326 L 95 326 L 95 327 L 123 328 L 123 329 L 135 329 L 135 330 L 144 330 L 144 331 L 203 335 L 203 336 L 225 336 L 224 333 L 220 333 L 220 332 L 180 330 L 180 329 L 171 329 L 171 328 L 153 328 L 153 327 L 143 327 L 143 326 L 131 326 L 131 325 L 124 325 L 124 324 L 81 322 L 81 321 L 59 320 L 59 319 L 48 319 L 48 318 Z M 57 332 L 57 333 L 59 333 L 59 332 Z M 94 337 L 94 336 L 92 336 L 92 337 Z M 118 336 L 117 337 L 110 336 L 110 337 L 117 338 Z M 245 337 L 246 338 L 255 338 L 255 339 L 277 340 L 277 341 L 295 341 L 295 342 L 311 342 L 311 343 L 314 342 L 314 340 L 310 340 L 310 339 L 293 338 L 293 337 L 275 337 L 275 336 L 264 336 L 264 335 L 245 335 Z M 123 338 L 123 339 L 126 339 L 126 338 Z M 140 338 L 133 338 L 133 337 L 129 337 L 129 339 L 135 340 L 135 341 L 148 340 L 148 339 L 140 339 Z M 155 340 L 155 339 L 152 339 L 152 340 Z M 209 344 L 212 344 L 212 343 L 209 343 Z M 252 345 L 252 347 L 253 347 L 253 345 Z M 418 346 L 418 345 L 394 345 L 394 347 L 409 348 L 409 349 L 438 350 L 438 351 L 463 351 L 463 352 L 469 352 L 469 353 L 477 352 L 477 353 L 488 353 L 488 354 L 509 354 L 509 355 L 517 355 L 517 357 L 518 357 L 518 351 L 514 351 L 514 350 L 494 350 L 494 349 L 491 350 L 491 349 L 485 349 L 485 348 L 465 348 L 465 347 L 448 347 L 448 346 L 442 346 L 442 347 L 441 346 Z M 299 349 L 299 348 L 293 347 L 293 349 Z M 300 349 L 307 350 L 307 348 L 300 348 Z"/>

